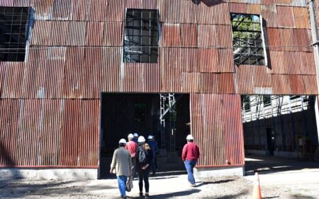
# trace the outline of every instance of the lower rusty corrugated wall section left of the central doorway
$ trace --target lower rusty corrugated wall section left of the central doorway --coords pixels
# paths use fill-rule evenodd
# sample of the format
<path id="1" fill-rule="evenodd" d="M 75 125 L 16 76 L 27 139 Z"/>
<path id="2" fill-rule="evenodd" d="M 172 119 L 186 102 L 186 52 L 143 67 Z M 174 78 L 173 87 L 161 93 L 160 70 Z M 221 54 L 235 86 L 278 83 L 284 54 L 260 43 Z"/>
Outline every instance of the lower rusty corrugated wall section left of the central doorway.
<path id="1" fill-rule="evenodd" d="M 0 108 L 0 166 L 96 168 L 99 100 L 1 99 Z"/>

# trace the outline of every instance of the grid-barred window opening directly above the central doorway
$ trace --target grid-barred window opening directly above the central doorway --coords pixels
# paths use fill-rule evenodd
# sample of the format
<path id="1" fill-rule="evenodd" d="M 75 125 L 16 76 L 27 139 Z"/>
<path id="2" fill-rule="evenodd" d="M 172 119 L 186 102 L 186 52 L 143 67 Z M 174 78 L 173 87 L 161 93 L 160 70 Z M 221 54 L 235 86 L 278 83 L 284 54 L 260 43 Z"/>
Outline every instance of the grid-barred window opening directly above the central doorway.
<path id="1" fill-rule="evenodd" d="M 157 10 L 126 11 L 124 62 L 157 63 L 158 39 Z"/>

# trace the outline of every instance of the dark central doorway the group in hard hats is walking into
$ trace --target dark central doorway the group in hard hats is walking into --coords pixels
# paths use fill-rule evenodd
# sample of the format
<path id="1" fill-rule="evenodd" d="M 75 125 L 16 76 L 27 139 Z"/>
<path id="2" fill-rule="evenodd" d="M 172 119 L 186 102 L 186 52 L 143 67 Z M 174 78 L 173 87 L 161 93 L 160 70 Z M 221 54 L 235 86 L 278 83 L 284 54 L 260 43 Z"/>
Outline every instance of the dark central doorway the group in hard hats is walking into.
<path id="1" fill-rule="evenodd" d="M 155 136 L 161 171 L 181 171 L 181 150 L 189 134 L 189 94 L 102 93 L 99 178 L 109 178 L 109 167 L 118 140 L 137 132 Z"/>

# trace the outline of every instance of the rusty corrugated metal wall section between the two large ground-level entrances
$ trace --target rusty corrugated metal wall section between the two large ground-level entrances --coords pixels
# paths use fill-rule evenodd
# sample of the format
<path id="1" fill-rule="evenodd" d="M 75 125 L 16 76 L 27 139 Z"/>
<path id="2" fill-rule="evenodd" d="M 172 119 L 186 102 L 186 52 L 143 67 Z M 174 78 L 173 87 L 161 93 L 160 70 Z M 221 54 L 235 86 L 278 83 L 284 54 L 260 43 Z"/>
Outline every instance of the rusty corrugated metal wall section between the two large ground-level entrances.
<path id="1" fill-rule="evenodd" d="M 198 166 L 245 164 L 240 95 L 191 94 L 190 103 Z"/>

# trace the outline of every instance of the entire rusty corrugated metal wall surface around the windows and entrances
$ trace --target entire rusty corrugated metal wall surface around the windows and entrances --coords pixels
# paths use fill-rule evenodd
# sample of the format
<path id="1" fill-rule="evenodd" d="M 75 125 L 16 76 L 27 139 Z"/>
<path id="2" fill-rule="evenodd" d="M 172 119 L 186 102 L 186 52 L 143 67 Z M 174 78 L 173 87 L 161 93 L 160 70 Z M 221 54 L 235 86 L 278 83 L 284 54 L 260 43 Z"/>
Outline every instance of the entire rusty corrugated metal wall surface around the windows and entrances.
<path id="1" fill-rule="evenodd" d="M 199 165 L 242 165 L 240 94 L 317 94 L 306 0 L 0 6 L 34 10 L 26 62 L 0 62 L 0 166 L 97 167 L 101 91 L 191 93 Z M 125 8 L 159 9 L 157 64 L 122 63 Z M 234 65 L 230 12 L 267 22 L 268 66 Z"/>

